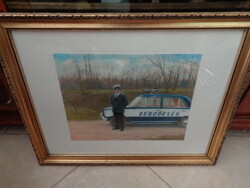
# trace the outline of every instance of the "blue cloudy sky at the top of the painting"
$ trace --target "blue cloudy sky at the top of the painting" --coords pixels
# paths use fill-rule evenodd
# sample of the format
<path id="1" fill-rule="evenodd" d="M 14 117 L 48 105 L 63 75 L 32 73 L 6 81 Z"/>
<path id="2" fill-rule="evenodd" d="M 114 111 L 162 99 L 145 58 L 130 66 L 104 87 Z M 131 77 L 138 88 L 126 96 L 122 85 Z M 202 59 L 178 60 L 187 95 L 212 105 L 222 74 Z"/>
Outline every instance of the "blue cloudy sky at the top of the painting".
<path id="1" fill-rule="evenodd" d="M 74 68 L 74 61 L 84 69 L 86 54 L 53 54 L 57 71 L 63 74 L 64 71 L 70 71 Z M 157 54 L 162 56 L 163 54 Z M 128 70 L 146 70 L 154 69 L 155 66 L 148 60 L 147 57 L 153 58 L 151 54 L 90 54 L 90 62 L 92 71 L 95 73 L 105 73 L 113 70 L 113 74 L 119 75 Z M 165 59 L 171 64 L 175 63 L 194 63 L 198 64 L 201 61 L 201 54 L 164 54 Z"/>

